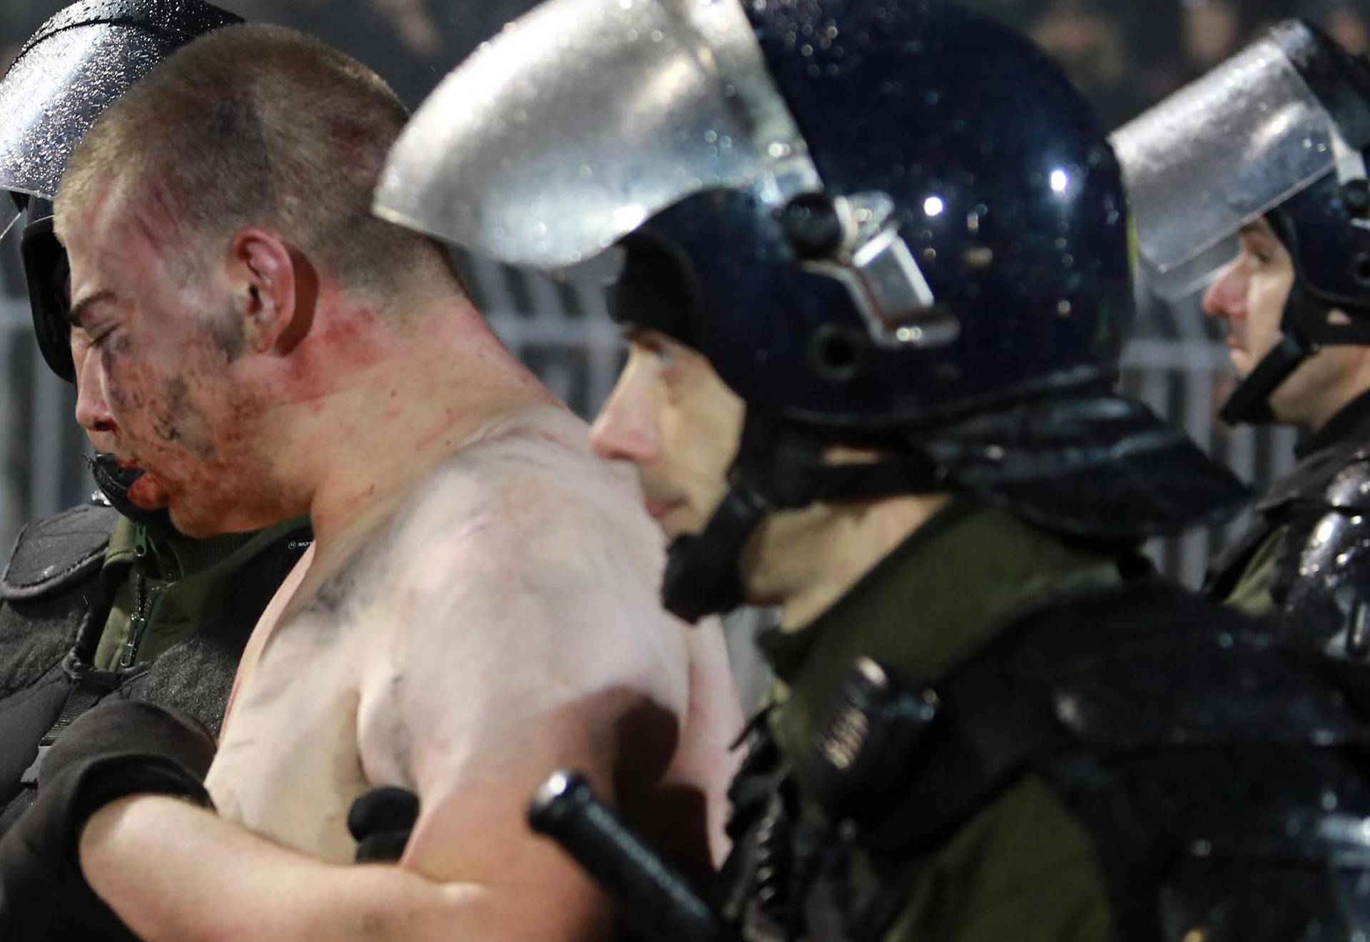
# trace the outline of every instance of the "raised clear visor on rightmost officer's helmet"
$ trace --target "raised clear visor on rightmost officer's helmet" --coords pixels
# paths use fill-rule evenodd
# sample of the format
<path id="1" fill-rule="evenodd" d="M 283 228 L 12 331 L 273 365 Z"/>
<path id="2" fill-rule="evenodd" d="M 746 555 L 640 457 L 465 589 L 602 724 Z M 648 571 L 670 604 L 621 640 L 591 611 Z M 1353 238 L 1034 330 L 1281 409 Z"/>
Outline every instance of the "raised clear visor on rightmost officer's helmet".
<path id="1" fill-rule="evenodd" d="M 1167 298 L 1201 289 L 1244 225 L 1334 167 L 1336 134 L 1269 38 L 1117 130 L 1147 283 Z"/>

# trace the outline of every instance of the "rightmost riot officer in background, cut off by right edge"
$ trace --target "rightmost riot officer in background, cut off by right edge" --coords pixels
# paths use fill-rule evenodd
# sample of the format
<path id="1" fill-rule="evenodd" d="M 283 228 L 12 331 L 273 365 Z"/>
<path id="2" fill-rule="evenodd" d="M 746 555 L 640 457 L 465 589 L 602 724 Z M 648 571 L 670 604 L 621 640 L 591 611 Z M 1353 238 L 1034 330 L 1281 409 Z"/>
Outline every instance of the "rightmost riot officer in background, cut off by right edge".
<path id="1" fill-rule="evenodd" d="M 1147 283 L 1228 324 L 1229 423 L 1300 429 L 1297 464 L 1208 593 L 1317 650 L 1370 654 L 1370 64 L 1274 27 L 1114 134 Z"/>

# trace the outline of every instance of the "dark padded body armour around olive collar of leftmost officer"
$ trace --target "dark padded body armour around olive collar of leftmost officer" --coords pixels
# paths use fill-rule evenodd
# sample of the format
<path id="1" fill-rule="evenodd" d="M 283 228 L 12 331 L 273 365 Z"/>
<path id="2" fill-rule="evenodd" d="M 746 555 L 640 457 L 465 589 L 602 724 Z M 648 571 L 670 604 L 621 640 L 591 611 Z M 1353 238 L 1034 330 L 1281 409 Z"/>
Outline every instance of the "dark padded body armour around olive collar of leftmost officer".
<path id="1" fill-rule="evenodd" d="M 0 578 L 0 834 L 33 802 L 37 764 L 77 716 L 105 697 L 182 709 L 218 734 L 242 648 L 308 546 L 282 538 L 234 576 L 223 605 L 152 661 L 92 665 L 118 579 L 103 578 L 118 513 L 97 504 L 34 520 Z"/>

